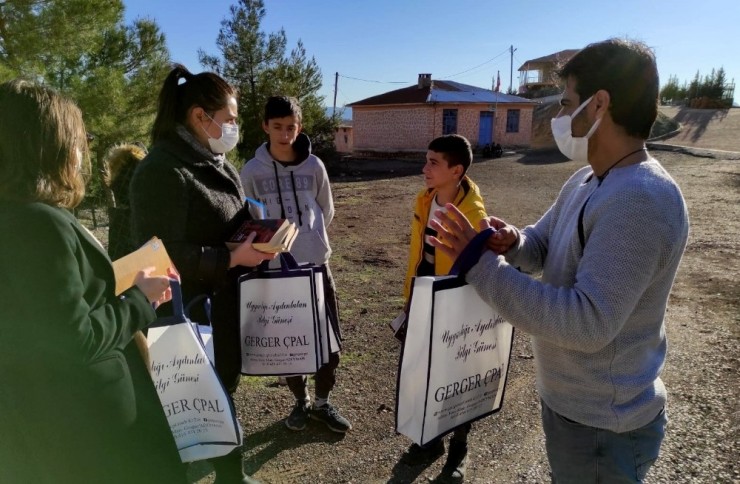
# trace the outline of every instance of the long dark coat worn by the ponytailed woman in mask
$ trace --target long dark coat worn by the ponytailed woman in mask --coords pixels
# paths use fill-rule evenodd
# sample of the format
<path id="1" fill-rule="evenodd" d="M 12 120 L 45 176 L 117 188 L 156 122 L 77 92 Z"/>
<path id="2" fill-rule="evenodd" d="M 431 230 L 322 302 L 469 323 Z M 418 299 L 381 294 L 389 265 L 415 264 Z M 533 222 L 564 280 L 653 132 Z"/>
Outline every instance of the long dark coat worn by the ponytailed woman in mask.
<path id="1" fill-rule="evenodd" d="M 137 167 L 130 198 L 134 240 L 162 239 L 186 302 L 200 294 L 211 298 L 216 370 L 233 391 L 240 368 L 237 279 L 244 269 L 229 270 L 224 242 L 234 221 L 249 216 L 236 169 L 180 137 L 159 141 Z M 203 313 L 191 318 L 206 322 Z"/>

